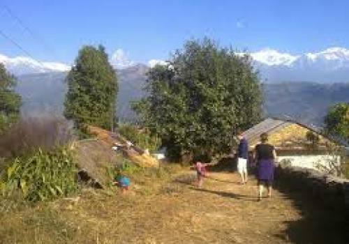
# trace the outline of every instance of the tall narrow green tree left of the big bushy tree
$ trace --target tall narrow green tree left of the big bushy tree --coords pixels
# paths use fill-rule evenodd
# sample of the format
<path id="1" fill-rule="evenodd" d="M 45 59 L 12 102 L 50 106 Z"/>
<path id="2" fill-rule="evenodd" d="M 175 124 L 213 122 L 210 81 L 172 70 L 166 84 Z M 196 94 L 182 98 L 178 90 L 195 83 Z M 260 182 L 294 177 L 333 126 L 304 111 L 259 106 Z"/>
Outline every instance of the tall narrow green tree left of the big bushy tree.
<path id="1" fill-rule="evenodd" d="M 84 124 L 112 128 L 116 117 L 117 74 L 108 61 L 105 48 L 84 46 L 68 77 L 64 115 L 77 128 Z"/>

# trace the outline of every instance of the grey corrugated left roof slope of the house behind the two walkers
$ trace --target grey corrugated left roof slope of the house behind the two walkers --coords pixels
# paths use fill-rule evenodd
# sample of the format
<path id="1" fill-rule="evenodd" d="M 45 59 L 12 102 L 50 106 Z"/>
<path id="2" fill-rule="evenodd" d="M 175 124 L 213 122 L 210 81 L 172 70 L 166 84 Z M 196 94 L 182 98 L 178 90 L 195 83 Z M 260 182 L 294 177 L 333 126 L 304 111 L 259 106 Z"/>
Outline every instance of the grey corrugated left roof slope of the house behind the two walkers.
<path id="1" fill-rule="evenodd" d="M 271 132 L 281 130 L 282 128 L 285 128 L 286 126 L 291 124 L 292 123 L 289 121 L 268 118 L 253 126 L 252 128 L 246 130 L 243 135 L 247 139 L 249 144 L 254 144 L 255 142 L 258 142 L 260 140 L 260 135 L 263 132 L 267 132 L 269 134 Z"/>

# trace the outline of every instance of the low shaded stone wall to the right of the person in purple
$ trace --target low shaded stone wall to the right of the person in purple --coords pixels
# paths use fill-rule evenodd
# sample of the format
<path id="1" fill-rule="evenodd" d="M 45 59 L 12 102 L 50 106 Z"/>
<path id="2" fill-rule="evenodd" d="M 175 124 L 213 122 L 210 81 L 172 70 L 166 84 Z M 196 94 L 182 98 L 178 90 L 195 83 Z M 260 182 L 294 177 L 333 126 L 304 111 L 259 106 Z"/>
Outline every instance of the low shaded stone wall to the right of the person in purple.
<path id="1" fill-rule="evenodd" d="M 349 227 L 349 180 L 327 176 L 314 169 L 281 167 L 275 169 L 276 184 L 304 192 L 319 204 L 346 215 Z"/>

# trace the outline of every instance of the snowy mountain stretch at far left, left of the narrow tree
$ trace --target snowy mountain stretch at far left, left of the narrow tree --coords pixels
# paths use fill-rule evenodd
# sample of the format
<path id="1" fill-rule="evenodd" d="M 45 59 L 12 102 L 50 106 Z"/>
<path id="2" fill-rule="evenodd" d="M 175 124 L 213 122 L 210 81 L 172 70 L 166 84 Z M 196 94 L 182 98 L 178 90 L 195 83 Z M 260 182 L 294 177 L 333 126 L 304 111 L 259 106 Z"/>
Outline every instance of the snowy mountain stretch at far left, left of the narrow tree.
<path id="1" fill-rule="evenodd" d="M 70 70 L 70 66 L 64 63 L 40 62 L 26 56 L 10 58 L 0 54 L 0 63 L 6 67 L 8 72 L 15 75 L 25 75 L 29 73 L 62 72 Z"/>

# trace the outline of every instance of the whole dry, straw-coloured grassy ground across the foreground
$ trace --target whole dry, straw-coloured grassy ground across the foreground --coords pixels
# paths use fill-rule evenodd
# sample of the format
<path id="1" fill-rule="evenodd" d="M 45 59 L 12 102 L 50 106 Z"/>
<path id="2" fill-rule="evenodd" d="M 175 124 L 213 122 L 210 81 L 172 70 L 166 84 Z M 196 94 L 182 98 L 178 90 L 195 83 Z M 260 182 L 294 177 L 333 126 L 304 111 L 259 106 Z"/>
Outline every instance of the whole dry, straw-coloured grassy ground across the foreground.
<path id="1" fill-rule="evenodd" d="M 211 173 L 201 189 L 191 184 L 193 178 L 195 172 L 182 171 L 162 183 L 135 182 L 128 195 L 87 190 L 77 203 L 58 200 L 3 215 L 7 220 L 0 239 L 3 243 L 344 243 L 331 213 L 307 204 L 306 196 L 298 196 L 299 203 L 275 190 L 272 199 L 258 202 L 253 178 L 239 185 L 236 173 Z"/>

